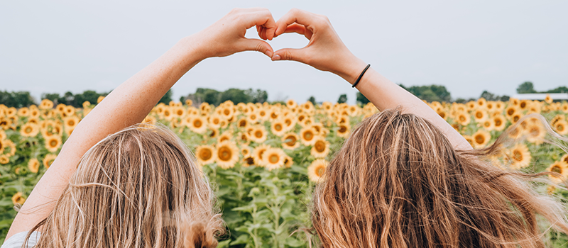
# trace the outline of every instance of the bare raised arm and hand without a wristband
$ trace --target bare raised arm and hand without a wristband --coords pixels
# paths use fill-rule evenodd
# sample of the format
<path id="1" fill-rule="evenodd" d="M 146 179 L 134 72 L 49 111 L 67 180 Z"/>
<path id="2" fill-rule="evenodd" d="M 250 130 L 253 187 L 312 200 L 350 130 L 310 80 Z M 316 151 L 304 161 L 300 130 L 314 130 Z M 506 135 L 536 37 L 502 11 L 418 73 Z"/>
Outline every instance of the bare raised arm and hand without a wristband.
<path id="1" fill-rule="evenodd" d="M 271 57 L 263 40 L 247 39 L 246 30 L 257 27 L 263 39 L 272 39 L 275 21 L 267 9 L 234 9 L 212 26 L 182 38 L 168 52 L 109 94 L 87 115 L 63 145 L 58 158 L 45 172 L 24 203 L 6 237 L 31 230 L 55 207 L 81 157 L 112 133 L 140 123 L 180 77 L 207 57 L 223 57 L 256 50 Z"/>

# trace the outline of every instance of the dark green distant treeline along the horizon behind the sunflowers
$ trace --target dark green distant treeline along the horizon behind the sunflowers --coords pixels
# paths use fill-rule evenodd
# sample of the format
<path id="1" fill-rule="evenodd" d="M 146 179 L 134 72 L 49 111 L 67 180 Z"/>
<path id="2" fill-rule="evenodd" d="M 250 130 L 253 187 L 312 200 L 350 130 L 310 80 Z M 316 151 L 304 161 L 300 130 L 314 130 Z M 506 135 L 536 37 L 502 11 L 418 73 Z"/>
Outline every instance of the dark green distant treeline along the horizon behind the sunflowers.
<path id="1" fill-rule="evenodd" d="M 445 86 L 442 85 L 425 85 L 425 86 L 404 86 L 399 84 L 410 93 L 414 94 L 418 98 L 425 101 L 445 101 L 445 102 L 457 102 L 466 103 L 468 101 L 475 101 L 477 98 L 452 98 L 452 95 L 447 91 Z M 58 93 L 48 93 L 42 94 L 42 99 L 50 99 L 56 105 L 63 103 L 65 105 L 74 106 L 75 108 L 82 107 L 84 101 L 89 101 L 90 103 L 97 103 L 99 96 L 107 96 L 110 92 L 97 92 L 97 91 L 83 91 L 80 94 L 73 94 L 70 91 L 65 92 L 65 94 L 60 95 Z M 517 87 L 518 94 L 528 94 L 528 93 L 568 93 L 568 88 L 566 86 L 560 86 L 556 89 L 551 89 L 548 91 L 536 91 L 534 85 L 530 81 L 525 81 Z M 159 101 L 159 103 L 169 103 L 173 101 L 172 90 L 170 89 Z M 492 94 L 489 91 L 484 91 L 481 96 L 488 101 L 508 101 L 509 96 L 498 96 Z M 195 93 L 188 94 L 187 96 L 182 96 L 180 101 L 185 102 L 186 100 L 192 100 L 194 104 L 209 103 L 214 106 L 218 106 L 219 103 L 224 101 L 232 101 L 234 103 L 264 103 L 268 101 L 268 93 L 261 89 L 227 89 L 226 91 L 217 91 L 214 89 L 207 88 L 197 88 Z M 310 96 L 307 101 L 312 103 L 317 103 L 314 96 Z M 347 95 L 342 94 L 337 99 L 338 103 L 345 103 L 347 101 Z M 360 92 L 356 94 L 356 102 L 361 104 L 368 103 L 368 99 L 363 96 Z M 4 104 L 8 107 L 26 107 L 32 104 L 38 105 L 36 101 L 28 91 L 0 91 L 0 104 Z"/>

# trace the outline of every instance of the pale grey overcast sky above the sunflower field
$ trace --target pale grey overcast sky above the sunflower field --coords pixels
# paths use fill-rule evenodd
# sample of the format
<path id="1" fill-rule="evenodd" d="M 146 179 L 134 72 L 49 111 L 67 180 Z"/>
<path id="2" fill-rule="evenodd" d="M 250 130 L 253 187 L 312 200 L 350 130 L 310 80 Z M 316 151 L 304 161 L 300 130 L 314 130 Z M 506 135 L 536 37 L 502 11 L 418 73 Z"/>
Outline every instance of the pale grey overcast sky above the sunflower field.
<path id="1" fill-rule="evenodd" d="M 119 86 L 180 38 L 234 7 L 291 8 L 329 17 L 344 43 L 388 79 L 442 84 L 453 98 L 568 85 L 568 1 L 1 1 L 0 90 L 44 92 Z M 256 38 L 249 32 L 247 37 Z M 303 47 L 302 35 L 270 43 Z M 271 62 L 258 52 L 204 60 L 173 87 L 265 89 L 269 100 L 337 101 L 355 89 L 329 72 Z"/>

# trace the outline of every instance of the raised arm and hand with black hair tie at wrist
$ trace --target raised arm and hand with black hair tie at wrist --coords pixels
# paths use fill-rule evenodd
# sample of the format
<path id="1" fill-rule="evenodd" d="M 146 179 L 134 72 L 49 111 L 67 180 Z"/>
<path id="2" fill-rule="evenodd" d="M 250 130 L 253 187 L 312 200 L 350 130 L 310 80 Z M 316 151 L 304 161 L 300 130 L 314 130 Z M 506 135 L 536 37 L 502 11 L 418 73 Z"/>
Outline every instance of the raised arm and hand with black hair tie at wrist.
<path id="1" fill-rule="evenodd" d="M 293 9 L 276 22 L 275 36 L 283 33 L 300 33 L 310 40 L 301 49 L 285 48 L 274 52 L 272 60 L 295 60 L 310 64 L 316 69 L 332 72 L 354 84 L 366 63 L 355 57 L 342 43 L 326 16 Z M 403 112 L 414 113 L 435 123 L 460 150 L 469 150 L 471 145 L 451 125 L 419 98 L 369 68 L 356 85 L 361 94 L 379 110 L 401 106 Z"/>

